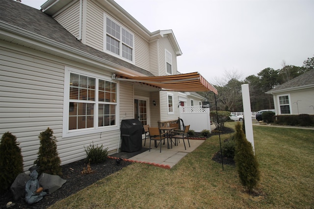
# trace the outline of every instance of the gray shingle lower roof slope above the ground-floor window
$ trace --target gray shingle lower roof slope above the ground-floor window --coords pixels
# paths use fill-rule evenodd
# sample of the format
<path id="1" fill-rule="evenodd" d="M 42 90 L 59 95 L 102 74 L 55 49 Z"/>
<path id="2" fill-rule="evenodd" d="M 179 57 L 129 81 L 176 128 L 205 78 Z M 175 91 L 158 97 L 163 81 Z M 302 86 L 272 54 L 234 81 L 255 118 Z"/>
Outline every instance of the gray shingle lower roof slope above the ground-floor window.
<path id="1" fill-rule="evenodd" d="M 86 54 L 104 59 L 119 66 L 140 72 L 147 76 L 154 76 L 151 72 L 136 67 L 129 62 L 111 56 L 90 46 L 82 44 L 61 24 L 42 11 L 29 7 L 14 0 L 1 0 L 0 22 L 24 29 L 38 36 L 45 37 L 59 44 L 72 47 Z"/>

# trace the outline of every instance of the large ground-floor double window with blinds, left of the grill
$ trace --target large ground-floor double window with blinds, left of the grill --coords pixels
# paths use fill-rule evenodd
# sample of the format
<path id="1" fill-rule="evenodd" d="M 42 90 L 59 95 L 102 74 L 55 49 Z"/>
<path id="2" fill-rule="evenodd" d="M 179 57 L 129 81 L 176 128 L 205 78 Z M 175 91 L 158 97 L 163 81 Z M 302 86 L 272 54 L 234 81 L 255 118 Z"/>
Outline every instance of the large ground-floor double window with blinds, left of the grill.
<path id="1" fill-rule="evenodd" d="M 66 134 L 116 127 L 117 84 L 103 77 L 68 70 L 65 77 Z M 65 91 L 66 92 L 66 91 Z M 67 118 L 67 120 L 65 119 Z"/>

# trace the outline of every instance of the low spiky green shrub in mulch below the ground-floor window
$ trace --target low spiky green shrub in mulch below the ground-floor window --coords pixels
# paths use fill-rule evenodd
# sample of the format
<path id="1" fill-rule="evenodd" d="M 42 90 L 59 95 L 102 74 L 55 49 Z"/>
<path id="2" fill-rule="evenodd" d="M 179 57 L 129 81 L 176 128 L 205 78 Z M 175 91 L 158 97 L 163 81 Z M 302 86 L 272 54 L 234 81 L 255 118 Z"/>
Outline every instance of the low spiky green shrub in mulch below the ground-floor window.
<path id="1" fill-rule="evenodd" d="M 91 164 L 94 163 L 103 163 L 106 161 L 107 156 L 108 156 L 108 148 L 104 149 L 103 144 L 98 146 L 98 145 L 94 145 L 90 144 L 87 148 L 85 148 L 85 152 L 87 155 L 87 162 L 90 162 Z"/>

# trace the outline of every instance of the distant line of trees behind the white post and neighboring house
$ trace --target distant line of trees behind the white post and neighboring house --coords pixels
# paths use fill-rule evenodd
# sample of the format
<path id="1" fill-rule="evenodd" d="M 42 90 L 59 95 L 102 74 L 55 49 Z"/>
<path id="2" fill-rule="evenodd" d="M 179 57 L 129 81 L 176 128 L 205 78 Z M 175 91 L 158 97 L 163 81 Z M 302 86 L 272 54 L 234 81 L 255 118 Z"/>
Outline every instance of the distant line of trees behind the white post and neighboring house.
<path id="1" fill-rule="evenodd" d="M 241 85 L 249 84 L 251 109 L 253 112 L 262 109 L 274 109 L 274 101 L 271 94 L 265 92 L 286 83 L 287 81 L 314 69 L 314 57 L 307 58 L 302 67 L 286 65 L 282 63 L 282 69 L 274 70 L 265 68 L 257 75 L 249 75 L 244 80 L 240 80 L 241 74 L 237 71 L 225 72 L 220 80 L 216 79 L 214 87 L 218 90 L 217 109 L 230 112 L 242 112 L 242 92 Z M 211 110 L 215 109 L 213 93 L 202 92 L 201 95 L 207 97 Z"/>

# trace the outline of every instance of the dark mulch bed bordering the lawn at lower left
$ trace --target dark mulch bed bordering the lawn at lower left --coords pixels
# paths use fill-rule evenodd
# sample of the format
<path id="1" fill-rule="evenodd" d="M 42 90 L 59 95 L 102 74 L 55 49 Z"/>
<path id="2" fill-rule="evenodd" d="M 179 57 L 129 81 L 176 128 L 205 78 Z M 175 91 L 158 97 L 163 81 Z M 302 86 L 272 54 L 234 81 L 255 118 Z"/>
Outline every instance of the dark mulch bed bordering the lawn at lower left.
<path id="1" fill-rule="evenodd" d="M 15 203 L 15 206 L 10 209 L 45 209 L 53 205 L 55 202 L 62 200 L 72 194 L 77 193 L 79 190 L 86 186 L 105 178 L 106 176 L 121 170 L 123 167 L 131 164 L 127 161 L 121 161 L 119 164 L 115 159 L 107 159 L 105 163 L 91 164 L 92 173 L 82 174 L 83 168 L 87 168 L 85 160 L 77 161 L 62 165 L 62 179 L 67 182 L 52 194 L 44 196 L 44 199 L 38 203 L 28 205 L 25 199 L 14 201 L 10 191 L 0 195 L 0 209 L 6 209 L 6 204 L 9 201 Z"/>

